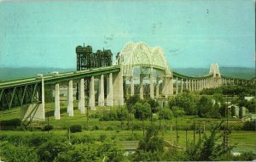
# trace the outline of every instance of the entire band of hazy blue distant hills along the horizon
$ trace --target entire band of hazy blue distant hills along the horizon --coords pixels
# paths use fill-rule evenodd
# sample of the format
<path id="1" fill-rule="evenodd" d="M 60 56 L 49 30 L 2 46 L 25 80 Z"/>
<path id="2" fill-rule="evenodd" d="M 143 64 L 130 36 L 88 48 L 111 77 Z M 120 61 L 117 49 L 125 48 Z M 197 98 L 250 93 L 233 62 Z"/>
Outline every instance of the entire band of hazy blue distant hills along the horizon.
<path id="1" fill-rule="evenodd" d="M 254 77 L 253 68 L 219 68 L 224 76 L 231 76 L 236 78 L 251 79 Z M 0 68 L 0 81 L 9 81 L 19 78 L 34 77 L 38 74 L 50 74 L 53 71 L 67 72 L 75 69 L 60 69 L 60 68 Z M 209 69 L 207 68 L 178 68 L 172 69 L 177 73 L 190 76 L 207 75 Z"/>

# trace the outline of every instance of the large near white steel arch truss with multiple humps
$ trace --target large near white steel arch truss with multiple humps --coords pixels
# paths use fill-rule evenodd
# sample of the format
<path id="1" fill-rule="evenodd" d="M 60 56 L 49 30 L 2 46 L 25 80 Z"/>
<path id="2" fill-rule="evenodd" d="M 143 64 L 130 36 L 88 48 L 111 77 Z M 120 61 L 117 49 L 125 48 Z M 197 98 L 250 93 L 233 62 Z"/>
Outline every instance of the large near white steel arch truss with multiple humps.
<path id="1" fill-rule="evenodd" d="M 124 76 L 132 76 L 134 68 L 140 67 L 163 70 L 164 75 L 172 77 L 163 49 L 148 47 L 144 42 L 128 42 L 119 53 L 116 64 L 122 66 Z"/>

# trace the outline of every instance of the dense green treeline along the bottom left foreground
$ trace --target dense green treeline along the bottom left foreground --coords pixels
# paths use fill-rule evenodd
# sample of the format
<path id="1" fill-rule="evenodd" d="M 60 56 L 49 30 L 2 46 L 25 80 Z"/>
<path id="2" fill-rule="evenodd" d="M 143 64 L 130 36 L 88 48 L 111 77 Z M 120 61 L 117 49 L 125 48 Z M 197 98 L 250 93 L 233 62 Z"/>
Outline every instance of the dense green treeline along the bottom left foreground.
<path id="1" fill-rule="evenodd" d="M 0 135 L 1 159 L 5 162 L 122 161 L 124 152 L 117 142 L 104 137 L 79 138 L 58 135 Z"/>

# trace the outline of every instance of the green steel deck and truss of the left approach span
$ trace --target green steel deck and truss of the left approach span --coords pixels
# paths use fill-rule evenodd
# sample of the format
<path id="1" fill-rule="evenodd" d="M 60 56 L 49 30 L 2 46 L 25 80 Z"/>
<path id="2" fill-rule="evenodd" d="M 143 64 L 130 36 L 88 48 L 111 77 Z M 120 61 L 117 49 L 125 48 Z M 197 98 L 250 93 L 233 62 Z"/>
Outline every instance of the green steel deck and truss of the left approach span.
<path id="1" fill-rule="evenodd" d="M 108 75 L 119 72 L 119 66 L 108 66 L 90 70 L 79 70 L 57 75 L 44 75 L 44 84 L 51 85 L 62 81 L 77 80 L 90 76 Z M 40 76 L 40 75 L 39 75 Z M 0 83 L 0 109 L 11 109 L 30 103 L 38 103 L 41 98 L 42 78 L 32 77 Z M 38 94 L 38 96 L 37 96 Z M 39 98 L 37 98 L 39 97 Z"/>

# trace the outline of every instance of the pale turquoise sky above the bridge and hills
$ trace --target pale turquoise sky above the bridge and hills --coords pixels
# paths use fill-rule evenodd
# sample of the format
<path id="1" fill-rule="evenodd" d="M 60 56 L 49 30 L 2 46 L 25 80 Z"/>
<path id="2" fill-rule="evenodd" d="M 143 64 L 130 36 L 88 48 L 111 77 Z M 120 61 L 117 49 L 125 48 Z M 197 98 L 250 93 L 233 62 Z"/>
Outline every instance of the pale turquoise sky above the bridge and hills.
<path id="1" fill-rule="evenodd" d="M 75 47 L 162 47 L 171 69 L 253 67 L 253 0 L 3 1 L 0 67 L 76 69 Z"/>

